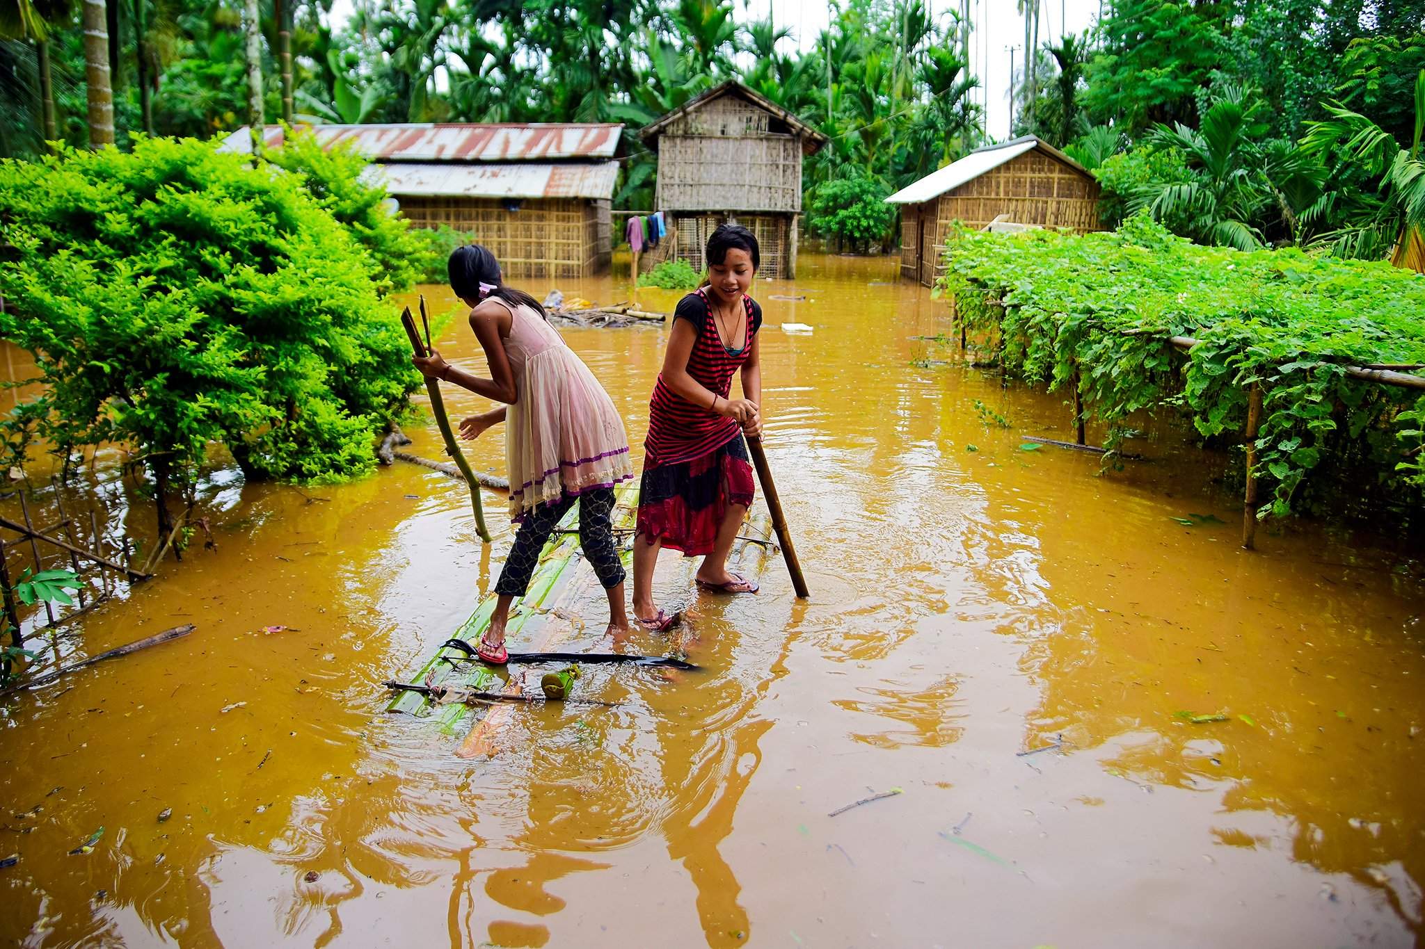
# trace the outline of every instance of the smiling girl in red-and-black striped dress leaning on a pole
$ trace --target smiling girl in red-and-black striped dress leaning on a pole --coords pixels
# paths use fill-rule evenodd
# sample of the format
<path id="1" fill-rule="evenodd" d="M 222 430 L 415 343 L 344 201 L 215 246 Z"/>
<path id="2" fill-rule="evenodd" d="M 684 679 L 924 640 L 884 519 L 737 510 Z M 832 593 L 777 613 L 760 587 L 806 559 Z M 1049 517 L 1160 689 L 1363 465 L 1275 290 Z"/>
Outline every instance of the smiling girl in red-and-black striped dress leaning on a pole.
<path id="1" fill-rule="evenodd" d="M 638 528 L 633 553 L 633 615 L 663 632 L 677 617 L 653 603 L 653 568 L 661 548 L 704 555 L 697 582 L 720 593 L 755 593 L 731 573 L 727 555 L 752 505 L 752 465 L 742 435 L 758 437 L 762 371 L 757 337 L 762 307 L 747 290 L 757 273 L 757 238 L 721 225 L 708 238 L 708 276 L 673 314 L 668 351 L 653 390 Z M 741 373 L 742 398 L 731 397 Z"/>

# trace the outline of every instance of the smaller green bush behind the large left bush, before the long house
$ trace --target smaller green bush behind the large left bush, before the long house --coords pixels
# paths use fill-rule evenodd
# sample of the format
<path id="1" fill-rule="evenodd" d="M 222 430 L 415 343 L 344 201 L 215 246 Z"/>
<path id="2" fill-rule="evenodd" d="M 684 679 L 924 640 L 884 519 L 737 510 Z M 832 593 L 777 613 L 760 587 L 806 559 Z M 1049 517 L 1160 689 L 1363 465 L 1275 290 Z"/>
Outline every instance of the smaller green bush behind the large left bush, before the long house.
<path id="1" fill-rule="evenodd" d="M 382 292 L 406 290 L 423 276 L 420 239 L 409 230 L 410 222 L 386 203 L 386 189 L 362 176 L 369 162 L 351 145 L 323 148 L 312 132 L 289 131 L 282 148 L 268 149 L 265 157 L 301 175 L 312 196 L 370 252 Z"/>

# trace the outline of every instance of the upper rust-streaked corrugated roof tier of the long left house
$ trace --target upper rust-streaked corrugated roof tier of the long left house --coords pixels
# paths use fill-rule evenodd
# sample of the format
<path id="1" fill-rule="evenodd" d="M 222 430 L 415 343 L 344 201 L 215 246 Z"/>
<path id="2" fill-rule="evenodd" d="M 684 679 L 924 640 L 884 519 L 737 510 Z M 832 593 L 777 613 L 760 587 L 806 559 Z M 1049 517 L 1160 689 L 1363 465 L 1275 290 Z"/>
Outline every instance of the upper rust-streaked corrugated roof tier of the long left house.
<path id="1" fill-rule="evenodd" d="M 302 125 L 323 147 L 349 142 L 375 161 L 550 161 L 557 158 L 613 158 L 618 148 L 617 124 L 530 122 L 408 122 L 393 125 Z M 268 148 L 282 144 L 282 127 L 264 129 Z M 222 142 L 221 151 L 251 152 L 252 138 L 244 125 Z"/>

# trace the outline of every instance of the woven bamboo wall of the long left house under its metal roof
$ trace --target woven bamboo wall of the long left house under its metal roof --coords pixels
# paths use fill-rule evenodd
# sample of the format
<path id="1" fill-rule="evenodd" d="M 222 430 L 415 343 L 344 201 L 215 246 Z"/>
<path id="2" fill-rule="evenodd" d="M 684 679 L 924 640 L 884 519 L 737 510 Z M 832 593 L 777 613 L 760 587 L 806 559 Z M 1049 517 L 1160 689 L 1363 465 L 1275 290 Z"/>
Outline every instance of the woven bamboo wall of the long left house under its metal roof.
<path id="1" fill-rule="evenodd" d="M 496 198 L 402 198 L 400 211 L 418 228 L 449 225 L 475 235 L 510 279 L 574 279 L 608 269 L 607 202 L 524 199 L 519 211 L 506 211 Z"/>

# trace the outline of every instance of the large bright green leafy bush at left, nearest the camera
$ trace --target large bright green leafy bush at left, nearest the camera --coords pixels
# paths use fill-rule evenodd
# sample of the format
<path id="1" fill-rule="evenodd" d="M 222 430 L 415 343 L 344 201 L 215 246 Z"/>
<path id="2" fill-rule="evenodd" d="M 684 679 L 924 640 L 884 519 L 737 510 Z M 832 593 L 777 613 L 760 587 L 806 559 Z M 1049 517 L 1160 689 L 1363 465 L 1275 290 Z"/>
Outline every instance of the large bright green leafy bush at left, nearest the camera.
<path id="1" fill-rule="evenodd" d="M 191 487 L 221 442 L 251 477 L 345 478 L 418 378 L 369 253 L 302 178 L 187 139 L 0 162 L 0 336 L 43 393 L 0 423 L 13 464 L 130 447 Z"/>

